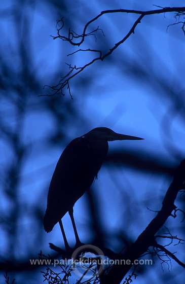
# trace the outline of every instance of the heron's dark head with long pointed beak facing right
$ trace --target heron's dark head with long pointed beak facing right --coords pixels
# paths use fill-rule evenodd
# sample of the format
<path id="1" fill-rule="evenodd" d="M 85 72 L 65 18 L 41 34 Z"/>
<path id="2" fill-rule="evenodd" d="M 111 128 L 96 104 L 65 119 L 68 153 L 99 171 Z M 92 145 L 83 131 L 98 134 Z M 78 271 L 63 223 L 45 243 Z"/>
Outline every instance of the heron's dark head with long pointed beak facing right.
<path id="1" fill-rule="evenodd" d="M 119 134 L 115 131 L 106 128 L 106 127 L 97 127 L 83 135 L 82 137 L 93 140 L 106 140 L 106 141 L 115 141 L 115 140 L 142 140 L 143 138 Z"/>

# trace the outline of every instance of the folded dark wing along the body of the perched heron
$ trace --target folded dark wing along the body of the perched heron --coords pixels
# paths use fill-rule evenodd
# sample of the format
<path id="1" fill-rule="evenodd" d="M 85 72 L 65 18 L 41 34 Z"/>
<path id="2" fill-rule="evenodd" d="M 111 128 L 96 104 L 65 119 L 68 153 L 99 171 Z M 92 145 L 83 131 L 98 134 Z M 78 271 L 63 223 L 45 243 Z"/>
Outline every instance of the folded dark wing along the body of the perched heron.
<path id="1" fill-rule="evenodd" d="M 65 148 L 51 180 L 44 218 L 47 232 L 85 193 L 94 180 L 90 170 L 91 147 L 82 137 L 73 139 Z"/>

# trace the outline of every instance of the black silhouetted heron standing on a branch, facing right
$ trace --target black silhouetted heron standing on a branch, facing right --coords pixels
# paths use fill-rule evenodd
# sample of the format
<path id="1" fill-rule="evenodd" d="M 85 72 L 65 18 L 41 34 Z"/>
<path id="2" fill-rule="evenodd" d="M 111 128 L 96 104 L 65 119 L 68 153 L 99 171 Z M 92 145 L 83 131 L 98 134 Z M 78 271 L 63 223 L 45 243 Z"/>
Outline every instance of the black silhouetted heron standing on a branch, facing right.
<path id="1" fill-rule="evenodd" d="M 108 152 L 108 141 L 140 140 L 143 138 L 119 134 L 106 127 L 97 127 L 73 139 L 61 154 L 48 192 L 44 228 L 51 232 L 59 222 L 66 250 L 69 248 L 61 219 L 68 211 L 76 237 L 81 244 L 73 205 L 90 188 Z"/>

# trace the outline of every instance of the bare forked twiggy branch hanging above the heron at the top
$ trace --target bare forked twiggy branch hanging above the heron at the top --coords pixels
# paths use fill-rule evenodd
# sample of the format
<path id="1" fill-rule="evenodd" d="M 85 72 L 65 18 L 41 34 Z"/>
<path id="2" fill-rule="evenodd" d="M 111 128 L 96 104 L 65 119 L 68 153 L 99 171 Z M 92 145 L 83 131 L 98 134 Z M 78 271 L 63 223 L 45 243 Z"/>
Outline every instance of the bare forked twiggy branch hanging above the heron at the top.
<path id="1" fill-rule="evenodd" d="M 159 7 L 159 6 L 158 6 Z M 167 13 L 167 12 L 175 12 L 175 18 L 178 19 L 177 23 L 182 24 L 182 30 L 185 34 L 185 30 L 184 30 L 184 26 L 185 26 L 185 19 L 183 18 L 182 21 L 180 21 L 180 17 L 185 15 L 185 7 L 166 7 L 166 8 L 162 8 L 159 7 L 160 9 L 156 9 L 156 10 L 150 10 L 150 11 L 137 11 L 137 10 L 127 10 L 127 9 L 116 9 L 116 10 L 105 10 L 102 11 L 100 14 L 98 14 L 95 18 L 91 19 L 84 27 L 84 30 L 82 32 L 82 34 L 77 34 L 75 31 L 71 30 L 69 28 L 68 31 L 68 35 L 67 37 L 65 35 L 61 34 L 61 30 L 64 27 L 64 21 L 63 18 L 61 18 L 61 20 L 57 20 L 57 25 L 61 26 L 59 28 L 57 28 L 57 37 L 53 37 L 53 39 L 61 39 L 62 41 L 67 41 L 69 42 L 69 44 L 71 44 L 72 46 L 80 46 L 82 43 L 84 43 L 86 37 L 88 37 L 89 35 L 94 35 L 98 30 L 101 30 L 99 27 L 97 27 L 96 29 L 87 32 L 88 27 L 90 26 L 90 24 L 92 24 L 93 22 L 95 22 L 98 18 L 100 18 L 101 16 L 103 16 L 104 14 L 112 14 L 112 13 L 130 13 L 130 14 L 138 14 L 139 17 L 137 18 L 137 20 L 134 22 L 134 24 L 132 25 L 131 29 L 129 30 L 129 32 L 122 38 L 122 40 L 120 40 L 119 42 L 115 43 L 115 45 L 112 48 L 109 48 L 109 51 L 107 53 L 105 53 L 104 55 L 102 54 L 102 52 L 100 50 L 94 50 L 94 49 L 79 49 L 77 51 L 72 52 L 69 55 L 75 54 L 76 52 L 79 51 L 88 51 L 88 52 L 95 52 L 95 53 L 99 53 L 99 55 L 97 57 L 95 57 L 93 60 L 89 61 L 87 64 L 85 64 L 84 66 L 81 67 L 77 67 L 77 66 L 71 66 L 71 64 L 69 65 L 69 72 L 61 78 L 60 82 L 56 85 L 56 86 L 48 86 L 49 88 L 52 89 L 53 93 L 49 94 L 48 96 L 51 95 L 56 95 L 56 94 L 62 94 L 64 95 L 63 89 L 65 87 L 67 87 L 68 92 L 72 98 L 71 92 L 70 92 L 70 87 L 69 87 L 69 81 L 76 77 L 78 74 L 80 74 L 86 67 L 92 65 L 95 61 L 97 60 L 101 60 L 103 61 L 107 56 L 109 56 L 110 54 L 113 53 L 114 50 L 116 50 L 121 44 L 123 44 L 132 33 L 134 33 L 136 26 L 141 22 L 142 18 L 144 16 L 147 15 L 154 15 L 154 14 L 161 14 L 161 13 Z M 101 30 L 102 31 L 102 30 Z M 79 40 L 79 41 L 77 41 Z"/>

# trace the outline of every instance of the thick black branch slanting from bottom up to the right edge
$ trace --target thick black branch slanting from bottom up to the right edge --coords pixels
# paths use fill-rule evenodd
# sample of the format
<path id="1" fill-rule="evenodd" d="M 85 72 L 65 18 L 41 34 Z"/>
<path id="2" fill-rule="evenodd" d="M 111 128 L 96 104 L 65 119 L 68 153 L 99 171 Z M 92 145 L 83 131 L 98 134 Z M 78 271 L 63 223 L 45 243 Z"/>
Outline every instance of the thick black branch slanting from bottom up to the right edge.
<path id="1" fill-rule="evenodd" d="M 171 216 L 172 211 L 176 208 L 174 201 L 179 190 L 181 190 L 185 179 L 185 159 L 181 161 L 177 167 L 173 181 L 168 188 L 163 200 L 161 210 L 157 216 L 151 221 L 146 229 L 139 235 L 137 240 L 130 246 L 128 251 L 122 255 L 122 259 L 130 260 L 129 265 L 115 265 L 107 275 L 101 275 L 101 284 L 113 283 L 119 284 L 126 273 L 129 271 L 134 260 L 138 259 L 147 251 L 149 246 L 155 241 L 155 234 L 163 226 L 165 221 Z"/>

